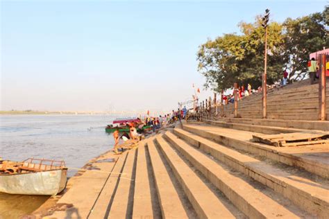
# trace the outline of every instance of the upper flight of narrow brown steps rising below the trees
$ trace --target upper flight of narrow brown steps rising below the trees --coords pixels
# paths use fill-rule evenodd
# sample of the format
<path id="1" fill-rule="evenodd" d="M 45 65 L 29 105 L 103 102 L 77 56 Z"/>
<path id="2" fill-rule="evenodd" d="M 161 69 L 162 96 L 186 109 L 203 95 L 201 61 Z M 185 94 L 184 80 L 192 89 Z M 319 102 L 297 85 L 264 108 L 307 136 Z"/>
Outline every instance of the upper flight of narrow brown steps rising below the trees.
<path id="1" fill-rule="evenodd" d="M 329 87 L 329 82 L 327 86 Z M 326 90 L 326 111 L 329 118 L 329 89 Z M 234 104 L 223 106 L 223 115 L 234 116 Z M 252 94 L 238 101 L 238 116 L 242 118 L 262 118 L 262 93 Z M 310 80 L 302 80 L 280 89 L 267 91 L 267 119 L 318 120 L 319 85 L 310 85 Z"/>

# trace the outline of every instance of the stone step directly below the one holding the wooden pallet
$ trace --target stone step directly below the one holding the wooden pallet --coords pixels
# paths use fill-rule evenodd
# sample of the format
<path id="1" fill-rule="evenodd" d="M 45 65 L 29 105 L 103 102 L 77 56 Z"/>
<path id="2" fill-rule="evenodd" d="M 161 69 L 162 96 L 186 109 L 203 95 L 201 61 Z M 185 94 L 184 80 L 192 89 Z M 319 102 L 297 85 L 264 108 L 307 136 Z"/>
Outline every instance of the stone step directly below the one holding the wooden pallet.
<path id="1" fill-rule="evenodd" d="M 285 169 L 249 157 L 185 130 L 174 129 L 174 133 L 192 146 L 292 200 L 301 209 L 320 218 L 326 218 L 329 215 L 329 186 L 326 180 L 322 181 L 326 182 L 323 186 L 321 182 L 287 172 Z M 182 140 L 171 137 L 170 141 L 178 145 Z"/>

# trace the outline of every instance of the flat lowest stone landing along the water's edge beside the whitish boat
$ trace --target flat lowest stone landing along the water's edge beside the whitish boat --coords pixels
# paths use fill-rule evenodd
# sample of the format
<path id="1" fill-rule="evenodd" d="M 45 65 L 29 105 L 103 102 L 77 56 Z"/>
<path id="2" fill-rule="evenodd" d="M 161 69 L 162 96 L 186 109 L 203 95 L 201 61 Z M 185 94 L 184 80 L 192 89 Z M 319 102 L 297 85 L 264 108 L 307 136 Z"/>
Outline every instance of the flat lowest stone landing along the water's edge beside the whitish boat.
<path id="1" fill-rule="evenodd" d="M 154 135 L 149 135 L 146 139 L 140 141 L 135 148 L 125 150 L 121 154 L 115 155 L 110 150 L 91 159 L 76 175 L 68 180 L 65 191 L 50 197 L 30 216 L 36 216 L 37 218 L 46 216 L 51 218 L 87 218 L 94 207 L 95 200 L 101 206 L 106 205 L 108 196 L 104 197 L 103 200 L 99 196 L 102 192 L 109 194 L 109 191 L 115 189 L 113 183 L 117 179 L 134 181 L 132 174 L 121 173 L 119 160 L 120 162 L 126 161 L 128 152 L 133 151 L 135 154 L 137 148 L 153 139 Z M 108 183 L 110 183 L 110 186 L 106 186 Z M 92 189 L 86 189 L 91 186 Z M 104 189 L 109 191 L 103 191 Z M 102 211 L 102 213 L 106 213 L 106 210 Z"/>

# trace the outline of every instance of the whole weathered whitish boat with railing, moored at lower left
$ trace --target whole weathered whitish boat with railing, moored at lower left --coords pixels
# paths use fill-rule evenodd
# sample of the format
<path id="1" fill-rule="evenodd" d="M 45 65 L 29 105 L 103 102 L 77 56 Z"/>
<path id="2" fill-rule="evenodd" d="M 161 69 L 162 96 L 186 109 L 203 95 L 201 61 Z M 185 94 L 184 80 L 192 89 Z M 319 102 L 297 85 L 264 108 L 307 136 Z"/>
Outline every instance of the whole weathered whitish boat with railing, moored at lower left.
<path id="1" fill-rule="evenodd" d="M 65 189 L 64 161 L 29 158 L 0 161 L 0 192 L 19 195 L 56 195 Z"/>

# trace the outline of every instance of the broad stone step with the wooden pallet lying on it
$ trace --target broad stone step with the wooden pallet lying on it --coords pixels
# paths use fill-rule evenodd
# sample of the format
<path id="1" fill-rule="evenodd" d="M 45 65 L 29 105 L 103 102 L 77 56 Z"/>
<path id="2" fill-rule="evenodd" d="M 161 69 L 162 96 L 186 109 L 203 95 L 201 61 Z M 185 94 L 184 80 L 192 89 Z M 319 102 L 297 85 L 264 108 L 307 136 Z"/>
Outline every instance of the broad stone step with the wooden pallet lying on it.
<path id="1" fill-rule="evenodd" d="M 183 129 L 192 132 L 206 139 L 210 139 L 223 145 L 231 146 L 237 150 L 250 152 L 258 156 L 264 156 L 268 159 L 303 168 L 310 173 L 321 177 L 329 177 L 329 159 L 324 145 L 298 147 L 273 147 L 262 143 L 250 141 L 252 134 L 257 132 L 247 132 L 242 130 L 232 130 L 228 128 L 219 128 L 212 125 L 183 125 Z M 314 153 L 321 153 L 323 156 L 314 156 Z"/>

